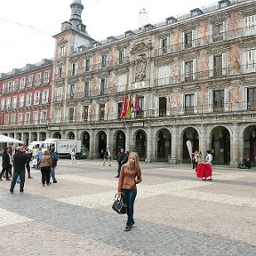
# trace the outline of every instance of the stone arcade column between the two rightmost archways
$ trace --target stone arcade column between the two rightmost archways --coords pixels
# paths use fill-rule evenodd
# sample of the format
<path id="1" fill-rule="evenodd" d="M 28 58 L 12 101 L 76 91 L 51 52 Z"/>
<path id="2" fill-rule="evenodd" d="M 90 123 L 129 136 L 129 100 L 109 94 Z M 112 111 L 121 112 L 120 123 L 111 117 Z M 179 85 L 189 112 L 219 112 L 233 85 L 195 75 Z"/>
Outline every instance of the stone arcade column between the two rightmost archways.
<path id="1" fill-rule="evenodd" d="M 233 136 L 232 137 L 230 136 L 230 166 L 231 167 L 237 167 L 237 163 L 239 161 L 238 151 L 239 151 L 239 146 L 241 145 L 241 143 L 239 143 L 240 141 L 238 138 L 238 125 L 233 124 Z"/>

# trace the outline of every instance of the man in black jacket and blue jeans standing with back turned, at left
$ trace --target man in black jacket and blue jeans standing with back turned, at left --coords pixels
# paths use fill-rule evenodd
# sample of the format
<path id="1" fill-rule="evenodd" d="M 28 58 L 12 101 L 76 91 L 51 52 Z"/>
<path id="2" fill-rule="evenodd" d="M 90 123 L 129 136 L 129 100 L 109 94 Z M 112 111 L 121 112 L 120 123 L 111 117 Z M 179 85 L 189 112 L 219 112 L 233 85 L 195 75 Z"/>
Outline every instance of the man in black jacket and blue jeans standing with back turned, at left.
<path id="1" fill-rule="evenodd" d="M 29 162 L 29 156 L 23 152 L 22 147 L 16 148 L 16 153 L 13 156 L 13 177 L 12 184 L 10 188 L 10 194 L 13 194 L 16 181 L 18 176 L 20 176 L 20 192 L 24 192 L 25 184 L 25 172 L 26 164 Z"/>

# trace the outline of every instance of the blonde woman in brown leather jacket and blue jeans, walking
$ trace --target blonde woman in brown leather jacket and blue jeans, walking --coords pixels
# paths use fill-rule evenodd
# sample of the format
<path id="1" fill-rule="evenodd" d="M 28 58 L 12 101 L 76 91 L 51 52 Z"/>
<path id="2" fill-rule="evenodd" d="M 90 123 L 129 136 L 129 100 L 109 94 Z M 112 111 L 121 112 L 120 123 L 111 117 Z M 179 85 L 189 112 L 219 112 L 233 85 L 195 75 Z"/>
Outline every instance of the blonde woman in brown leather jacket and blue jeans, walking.
<path id="1" fill-rule="evenodd" d="M 118 181 L 117 194 L 123 193 L 124 202 L 127 204 L 127 221 L 124 231 L 130 231 L 135 224 L 133 220 L 134 201 L 137 196 L 137 184 L 141 182 L 141 170 L 139 156 L 132 152 L 128 157 L 127 164 L 121 167 Z"/>

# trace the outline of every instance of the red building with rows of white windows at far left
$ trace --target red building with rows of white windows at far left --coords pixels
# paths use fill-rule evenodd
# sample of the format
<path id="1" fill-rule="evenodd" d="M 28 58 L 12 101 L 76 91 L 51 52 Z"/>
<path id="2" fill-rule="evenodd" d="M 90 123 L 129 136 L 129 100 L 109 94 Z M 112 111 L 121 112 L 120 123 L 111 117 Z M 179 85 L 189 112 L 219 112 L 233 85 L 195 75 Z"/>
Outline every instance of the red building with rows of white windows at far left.
<path id="1" fill-rule="evenodd" d="M 28 145 L 45 140 L 50 118 L 52 60 L 0 74 L 0 132 Z M 5 145 L 0 145 L 1 148 Z"/>

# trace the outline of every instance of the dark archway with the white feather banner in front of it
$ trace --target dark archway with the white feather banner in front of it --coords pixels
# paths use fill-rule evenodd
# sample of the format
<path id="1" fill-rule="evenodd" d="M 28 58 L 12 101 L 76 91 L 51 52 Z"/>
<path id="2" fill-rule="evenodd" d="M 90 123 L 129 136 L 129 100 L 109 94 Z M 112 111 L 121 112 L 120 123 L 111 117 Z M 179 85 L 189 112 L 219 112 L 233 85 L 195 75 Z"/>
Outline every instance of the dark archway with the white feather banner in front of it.
<path id="1" fill-rule="evenodd" d="M 183 155 L 182 155 L 182 162 L 183 163 L 191 163 L 191 156 L 192 152 L 196 150 L 200 151 L 199 148 L 199 136 L 198 132 L 195 128 L 189 127 L 183 133 Z M 191 151 L 191 152 L 190 152 Z"/>

